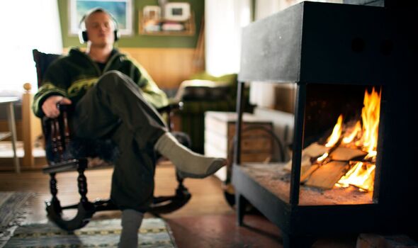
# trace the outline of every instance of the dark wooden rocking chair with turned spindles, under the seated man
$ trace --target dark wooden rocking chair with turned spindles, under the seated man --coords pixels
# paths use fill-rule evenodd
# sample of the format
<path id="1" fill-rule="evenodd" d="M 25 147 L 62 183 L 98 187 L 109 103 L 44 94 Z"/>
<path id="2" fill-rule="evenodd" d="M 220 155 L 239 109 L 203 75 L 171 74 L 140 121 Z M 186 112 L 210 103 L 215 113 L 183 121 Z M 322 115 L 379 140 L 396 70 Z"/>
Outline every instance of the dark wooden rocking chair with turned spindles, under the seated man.
<path id="1" fill-rule="evenodd" d="M 43 75 L 49 64 L 55 61 L 60 55 L 46 54 L 33 50 L 33 60 L 36 64 L 36 72 L 38 75 L 38 86 L 41 86 Z M 175 103 L 169 106 L 159 108 L 159 113 L 168 113 L 167 124 L 171 129 L 170 113 L 181 104 Z M 101 159 L 112 160 L 115 154 L 115 147 L 111 145 L 110 140 L 73 140 L 72 131 L 69 127 L 69 121 L 72 115 L 72 106 L 58 105 L 60 116 L 57 118 L 46 118 L 42 120 L 43 135 L 45 137 L 45 151 L 47 154 L 48 165 L 43 169 L 45 174 L 50 174 L 50 192 L 52 198 L 46 203 L 47 217 L 55 222 L 63 230 L 77 230 L 84 227 L 94 215 L 94 213 L 103 210 L 118 210 L 117 206 L 109 199 L 106 201 L 97 200 L 89 201 L 87 198 L 87 181 L 84 171 L 88 167 L 87 157 L 95 157 L 97 150 L 101 150 L 106 156 Z M 174 132 L 173 135 L 179 139 L 183 145 L 190 147 L 188 136 L 183 133 Z M 100 147 L 97 149 L 97 147 Z M 76 152 L 74 152 L 76 150 Z M 105 150 L 106 152 L 103 152 Z M 74 205 L 62 206 L 57 198 L 57 179 L 56 174 L 63 171 L 75 171 L 79 175 L 77 184 L 81 199 L 79 203 Z M 153 198 L 149 213 L 159 215 L 162 213 L 171 213 L 181 208 L 191 198 L 188 189 L 183 186 L 183 179 L 176 173 L 178 186 L 173 196 L 160 196 Z M 77 209 L 77 215 L 71 220 L 64 219 L 63 210 Z"/>

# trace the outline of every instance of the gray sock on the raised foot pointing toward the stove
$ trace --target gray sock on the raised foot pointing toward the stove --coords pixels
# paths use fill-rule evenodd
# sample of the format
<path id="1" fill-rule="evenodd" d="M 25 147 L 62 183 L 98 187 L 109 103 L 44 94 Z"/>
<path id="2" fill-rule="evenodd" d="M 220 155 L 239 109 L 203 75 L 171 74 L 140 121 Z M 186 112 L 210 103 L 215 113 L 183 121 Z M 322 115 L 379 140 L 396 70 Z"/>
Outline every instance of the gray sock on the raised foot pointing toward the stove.
<path id="1" fill-rule="evenodd" d="M 182 177 L 203 178 L 225 166 L 226 159 L 205 157 L 181 145 L 171 133 L 157 140 L 155 150 L 173 162 Z"/>

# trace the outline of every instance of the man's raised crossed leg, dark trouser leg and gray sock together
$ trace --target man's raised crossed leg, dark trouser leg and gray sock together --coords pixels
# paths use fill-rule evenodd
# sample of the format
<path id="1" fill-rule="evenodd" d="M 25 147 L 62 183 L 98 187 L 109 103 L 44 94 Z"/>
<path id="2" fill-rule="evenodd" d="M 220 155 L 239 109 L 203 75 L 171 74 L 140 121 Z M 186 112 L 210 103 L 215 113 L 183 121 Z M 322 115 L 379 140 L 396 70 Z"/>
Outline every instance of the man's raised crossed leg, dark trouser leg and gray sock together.
<path id="1" fill-rule="evenodd" d="M 120 120 L 135 137 L 140 150 L 155 145 L 154 148 L 170 159 L 184 177 L 202 178 L 226 164 L 225 159 L 204 157 L 177 142 L 166 132 L 162 118 L 145 101 L 140 89 L 120 72 L 103 75 L 79 101 L 76 112 L 77 121 L 84 123 L 79 125 L 81 137 L 92 137 L 94 133 L 103 137 Z"/>

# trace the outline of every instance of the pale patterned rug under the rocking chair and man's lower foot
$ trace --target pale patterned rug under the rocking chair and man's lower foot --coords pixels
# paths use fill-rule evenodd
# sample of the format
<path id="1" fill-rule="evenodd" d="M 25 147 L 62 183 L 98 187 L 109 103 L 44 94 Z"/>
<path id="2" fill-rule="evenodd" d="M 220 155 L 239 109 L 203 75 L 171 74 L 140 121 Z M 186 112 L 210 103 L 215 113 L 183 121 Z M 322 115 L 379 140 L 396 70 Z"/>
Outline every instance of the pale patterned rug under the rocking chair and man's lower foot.
<path id="1" fill-rule="evenodd" d="M 118 247 L 120 219 L 92 220 L 86 227 L 66 232 L 52 223 L 18 227 L 6 247 Z M 159 218 L 146 218 L 138 233 L 138 247 L 176 247 L 169 226 Z"/>

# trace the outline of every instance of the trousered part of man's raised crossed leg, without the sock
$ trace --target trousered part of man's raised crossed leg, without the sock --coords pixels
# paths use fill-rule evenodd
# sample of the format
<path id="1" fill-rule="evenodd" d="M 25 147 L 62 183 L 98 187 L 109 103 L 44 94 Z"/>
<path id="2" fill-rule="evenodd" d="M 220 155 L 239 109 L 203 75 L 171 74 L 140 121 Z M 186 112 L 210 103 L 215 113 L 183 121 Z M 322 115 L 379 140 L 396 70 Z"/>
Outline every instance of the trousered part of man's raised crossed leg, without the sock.
<path id="1" fill-rule="evenodd" d="M 106 137 L 120 124 L 134 135 L 140 149 L 154 145 L 166 133 L 164 121 L 139 87 L 125 74 L 112 71 L 77 103 L 74 130 L 80 137 Z"/>

